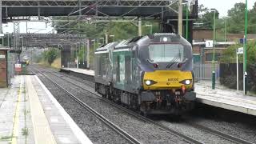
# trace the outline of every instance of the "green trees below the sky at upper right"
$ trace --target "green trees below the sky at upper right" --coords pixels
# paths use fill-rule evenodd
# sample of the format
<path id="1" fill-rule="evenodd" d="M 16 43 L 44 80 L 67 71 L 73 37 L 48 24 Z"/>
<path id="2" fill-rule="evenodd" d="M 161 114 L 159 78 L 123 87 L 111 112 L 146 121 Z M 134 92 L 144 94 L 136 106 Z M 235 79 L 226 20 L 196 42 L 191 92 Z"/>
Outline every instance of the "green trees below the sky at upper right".
<path id="1" fill-rule="evenodd" d="M 245 30 L 245 3 L 239 2 L 234 5 L 233 8 L 228 10 L 228 16 L 226 18 L 218 18 L 216 14 L 216 30 L 217 33 L 224 34 L 225 21 L 227 22 L 227 33 L 229 34 L 243 34 Z M 213 12 L 209 12 L 209 9 L 203 5 L 198 6 L 199 18 L 197 22 L 203 23 L 201 28 L 213 29 Z M 253 9 L 248 13 L 248 34 L 256 33 L 256 2 Z M 217 40 L 224 40 L 223 35 L 218 37 Z"/>

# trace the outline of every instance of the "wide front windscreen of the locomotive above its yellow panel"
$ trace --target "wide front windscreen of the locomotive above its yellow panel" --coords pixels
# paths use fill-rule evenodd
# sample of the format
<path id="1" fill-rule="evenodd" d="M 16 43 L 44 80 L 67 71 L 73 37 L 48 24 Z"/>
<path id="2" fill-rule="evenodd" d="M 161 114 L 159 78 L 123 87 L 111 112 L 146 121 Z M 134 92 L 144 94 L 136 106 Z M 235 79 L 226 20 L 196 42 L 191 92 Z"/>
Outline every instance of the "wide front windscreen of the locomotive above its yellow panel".
<path id="1" fill-rule="evenodd" d="M 180 44 L 154 44 L 149 46 L 149 54 L 153 62 L 182 62 L 184 47 Z"/>

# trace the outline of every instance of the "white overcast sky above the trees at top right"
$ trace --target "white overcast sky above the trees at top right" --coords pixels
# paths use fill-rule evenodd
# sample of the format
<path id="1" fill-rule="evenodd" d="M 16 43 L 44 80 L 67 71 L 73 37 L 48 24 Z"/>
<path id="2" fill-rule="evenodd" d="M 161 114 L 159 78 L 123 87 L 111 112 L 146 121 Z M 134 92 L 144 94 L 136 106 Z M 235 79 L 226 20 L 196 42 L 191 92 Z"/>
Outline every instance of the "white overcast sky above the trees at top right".
<path id="1" fill-rule="evenodd" d="M 221 17 L 227 15 L 227 10 L 230 10 L 234 7 L 235 3 L 246 2 L 246 0 L 198 0 L 198 5 L 203 4 L 209 9 L 215 8 L 219 11 Z M 248 0 L 248 8 L 252 8 L 256 0 Z"/>

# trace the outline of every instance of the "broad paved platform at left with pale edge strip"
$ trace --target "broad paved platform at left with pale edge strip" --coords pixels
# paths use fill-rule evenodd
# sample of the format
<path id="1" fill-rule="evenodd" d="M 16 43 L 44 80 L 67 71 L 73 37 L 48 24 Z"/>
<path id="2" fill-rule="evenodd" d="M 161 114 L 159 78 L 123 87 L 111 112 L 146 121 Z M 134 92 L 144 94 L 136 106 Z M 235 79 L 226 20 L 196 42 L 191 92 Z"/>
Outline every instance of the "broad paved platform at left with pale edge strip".
<path id="1" fill-rule="evenodd" d="M 0 91 L 0 143 L 92 143 L 37 76 Z"/>

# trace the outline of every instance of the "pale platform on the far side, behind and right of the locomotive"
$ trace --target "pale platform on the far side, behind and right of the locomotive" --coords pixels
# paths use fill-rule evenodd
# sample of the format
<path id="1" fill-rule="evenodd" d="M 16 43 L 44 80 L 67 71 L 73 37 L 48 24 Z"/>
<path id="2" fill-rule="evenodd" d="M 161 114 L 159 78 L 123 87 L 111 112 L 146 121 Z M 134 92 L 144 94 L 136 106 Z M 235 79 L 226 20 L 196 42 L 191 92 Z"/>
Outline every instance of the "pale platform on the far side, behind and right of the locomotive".
<path id="1" fill-rule="evenodd" d="M 83 70 L 76 68 L 62 68 L 61 71 L 74 74 L 83 74 L 85 77 L 93 77 L 93 70 Z M 234 110 L 244 114 L 256 116 L 256 95 L 244 95 L 242 91 L 231 90 L 219 84 L 216 89 L 211 89 L 210 81 L 200 81 L 195 83 L 197 101 L 206 105 L 220 107 L 226 110 Z"/>

